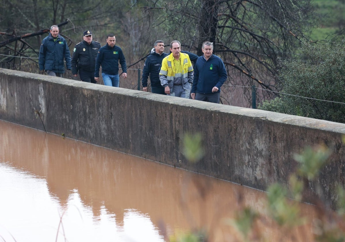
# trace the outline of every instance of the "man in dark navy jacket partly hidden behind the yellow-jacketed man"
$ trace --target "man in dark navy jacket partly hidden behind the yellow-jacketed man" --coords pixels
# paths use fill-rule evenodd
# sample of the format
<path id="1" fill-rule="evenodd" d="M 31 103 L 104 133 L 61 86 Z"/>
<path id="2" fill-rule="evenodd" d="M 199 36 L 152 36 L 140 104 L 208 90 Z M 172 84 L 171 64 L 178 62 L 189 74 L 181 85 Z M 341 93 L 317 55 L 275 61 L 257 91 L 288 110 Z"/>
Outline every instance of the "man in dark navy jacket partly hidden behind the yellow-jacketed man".
<path id="1" fill-rule="evenodd" d="M 159 70 L 162 65 L 162 59 L 168 54 L 164 53 L 164 41 L 157 40 L 154 44 L 155 48 L 152 49 L 151 54 L 146 58 L 144 69 L 142 70 L 142 91 L 147 92 L 147 79 L 150 75 L 151 91 L 152 93 L 158 93 L 166 95 L 164 93 L 164 87 L 160 84 Z"/>

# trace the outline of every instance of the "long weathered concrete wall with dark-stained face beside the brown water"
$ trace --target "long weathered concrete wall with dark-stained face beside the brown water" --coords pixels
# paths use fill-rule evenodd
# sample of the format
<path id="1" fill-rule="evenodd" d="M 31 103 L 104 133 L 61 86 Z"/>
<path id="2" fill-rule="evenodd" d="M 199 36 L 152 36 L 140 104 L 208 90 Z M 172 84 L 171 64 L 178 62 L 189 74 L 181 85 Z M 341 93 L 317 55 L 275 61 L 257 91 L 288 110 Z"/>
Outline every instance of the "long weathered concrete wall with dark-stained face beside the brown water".
<path id="1" fill-rule="evenodd" d="M 344 186 L 342 123 L 0 69 L 0 119 L 43 130 L 34 111 L 47 132 L 263 190 L 288 183 L 294 153 L 325 143 L 334 153 L 310 186 L 333 202 Z M 197 164 L 183 156 L 186 132 L 203 135 Z"/>

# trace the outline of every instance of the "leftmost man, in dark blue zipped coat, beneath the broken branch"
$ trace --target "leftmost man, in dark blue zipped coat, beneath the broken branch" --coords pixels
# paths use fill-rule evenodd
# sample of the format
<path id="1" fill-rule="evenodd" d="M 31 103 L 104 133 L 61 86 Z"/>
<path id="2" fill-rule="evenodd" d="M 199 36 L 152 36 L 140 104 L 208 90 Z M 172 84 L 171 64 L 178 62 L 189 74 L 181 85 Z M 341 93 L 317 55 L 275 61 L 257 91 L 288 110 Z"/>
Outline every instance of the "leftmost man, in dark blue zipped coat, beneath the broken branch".
<path id="1" fill-rule="evenodd" d="M 38 64 L 40 71 L 45 70 L 49 76 L 62 77 L 66 67 L 71 69 L 71 55 L 69 53 L 66 40 L 59 35 L 59 27 L 53 25 L 50 27 L 50 34 L 42 40 L 40 52 L 38 55 Z"/>

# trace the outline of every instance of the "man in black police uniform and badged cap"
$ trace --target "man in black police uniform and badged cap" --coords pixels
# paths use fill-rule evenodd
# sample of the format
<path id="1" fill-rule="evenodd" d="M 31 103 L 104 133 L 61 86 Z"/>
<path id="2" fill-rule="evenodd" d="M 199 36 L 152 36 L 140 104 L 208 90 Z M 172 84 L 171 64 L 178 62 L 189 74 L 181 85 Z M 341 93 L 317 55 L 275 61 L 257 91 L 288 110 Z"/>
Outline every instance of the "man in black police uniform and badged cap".
<path id="1" fill-rule="evenodd" d="M 91 31 L 84 31 L 83 41 L 78 43 L 73 49 L 71 60 L 73 76 L 77 76 L 79 70 L 81 81 L 96 83 L 95 65 L 99 48 L 101 48 L 101 44 L 97 41 L 92 41 Z"/>

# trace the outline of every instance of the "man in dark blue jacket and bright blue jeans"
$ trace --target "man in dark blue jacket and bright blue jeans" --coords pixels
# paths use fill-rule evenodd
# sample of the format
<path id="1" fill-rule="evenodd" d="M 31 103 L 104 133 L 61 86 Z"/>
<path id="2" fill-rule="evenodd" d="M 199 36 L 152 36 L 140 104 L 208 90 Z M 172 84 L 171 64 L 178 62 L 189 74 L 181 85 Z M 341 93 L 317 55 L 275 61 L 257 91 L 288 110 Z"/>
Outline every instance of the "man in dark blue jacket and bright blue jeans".
<path id="1" fill-rule="evenodd" d="M 127 77 L 126 59 L 122 49 L 115 45 L 115 35 L 107 36 L 107 44 L 99 49 L 96 58 L 95 80 L 99 79 L 99 68 L 102 66 L 104 85 L 119 87 L 119 62 L 122 68 L 122 77 Z"/>

